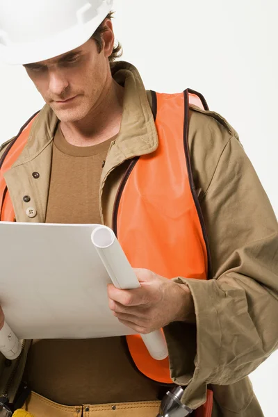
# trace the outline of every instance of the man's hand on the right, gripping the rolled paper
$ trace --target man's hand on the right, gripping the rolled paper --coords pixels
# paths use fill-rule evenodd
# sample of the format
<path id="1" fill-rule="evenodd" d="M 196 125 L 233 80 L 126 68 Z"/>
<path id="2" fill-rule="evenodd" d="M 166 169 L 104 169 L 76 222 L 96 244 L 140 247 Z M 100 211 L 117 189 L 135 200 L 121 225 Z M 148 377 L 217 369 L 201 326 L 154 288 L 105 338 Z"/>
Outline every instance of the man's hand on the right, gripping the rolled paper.
<path id="1" fill-rule="evenodd" d="M 142 334 L 174 321 L 195 322 L 193 298 L 186 285 L 149 270 L 134 271 L 140 288 L 120 290 L 108 284 L 109 307 L 120 322 Z"/>

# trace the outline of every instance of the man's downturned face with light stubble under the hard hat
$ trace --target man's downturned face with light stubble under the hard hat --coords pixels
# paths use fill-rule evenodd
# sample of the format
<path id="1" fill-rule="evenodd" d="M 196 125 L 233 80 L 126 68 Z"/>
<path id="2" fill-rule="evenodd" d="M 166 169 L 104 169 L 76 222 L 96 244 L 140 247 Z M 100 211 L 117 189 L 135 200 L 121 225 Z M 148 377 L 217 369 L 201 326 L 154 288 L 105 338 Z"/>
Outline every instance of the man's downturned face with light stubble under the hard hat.
<path id="1" fill-rule="evenodd" d="M 110 74 L 106 55 L 90 39 L 67 54 L 24 67 L 58 119 L 75 122 L 97 106 Z"/>

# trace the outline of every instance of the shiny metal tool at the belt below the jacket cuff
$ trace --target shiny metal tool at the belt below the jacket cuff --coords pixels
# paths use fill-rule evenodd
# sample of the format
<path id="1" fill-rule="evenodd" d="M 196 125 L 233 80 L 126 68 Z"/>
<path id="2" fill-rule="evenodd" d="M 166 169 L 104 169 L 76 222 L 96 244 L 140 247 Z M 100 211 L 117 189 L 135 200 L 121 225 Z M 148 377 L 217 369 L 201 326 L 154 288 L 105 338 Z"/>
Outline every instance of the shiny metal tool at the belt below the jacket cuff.
<path id="1" fill-rule="evenodd" d="M 159 414 L 156 417 L 186 417 L 193 412 L 193 409 L 181 403 L 184 390 L 181 386 L 176 386 L 171 391 L 167 391 L 163 400 Z"/>

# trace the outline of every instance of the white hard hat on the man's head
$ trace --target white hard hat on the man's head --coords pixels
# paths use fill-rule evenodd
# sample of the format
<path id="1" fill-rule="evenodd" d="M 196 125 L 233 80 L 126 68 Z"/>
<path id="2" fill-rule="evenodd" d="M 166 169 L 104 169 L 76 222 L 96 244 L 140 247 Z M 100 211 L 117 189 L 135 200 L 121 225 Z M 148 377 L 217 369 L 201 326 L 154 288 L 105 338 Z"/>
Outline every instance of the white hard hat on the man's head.
<path id="1" fill-rule="evenodd" d="M 0 60 L 20 65 L 80 47 L 113 0 L 0 0 Z"/>

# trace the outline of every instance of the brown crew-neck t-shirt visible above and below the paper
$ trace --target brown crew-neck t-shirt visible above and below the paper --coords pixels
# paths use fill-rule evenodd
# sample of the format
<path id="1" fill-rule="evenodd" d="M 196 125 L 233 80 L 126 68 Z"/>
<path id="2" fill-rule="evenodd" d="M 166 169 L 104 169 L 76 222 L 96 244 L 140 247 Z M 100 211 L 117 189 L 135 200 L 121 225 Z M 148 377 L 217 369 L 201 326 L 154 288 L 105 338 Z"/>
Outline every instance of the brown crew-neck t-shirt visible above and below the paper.
<path id="1" fill-rule="evenodd" d="M 58 126 L 47 205 L 48 223 L 98 223 L 101 167 L 111 141 L 76 147 Z M 60 404 L 155 400 L 158 385 L 138 373 L 124 338 L 33 341 L 24 380 Z"/>

